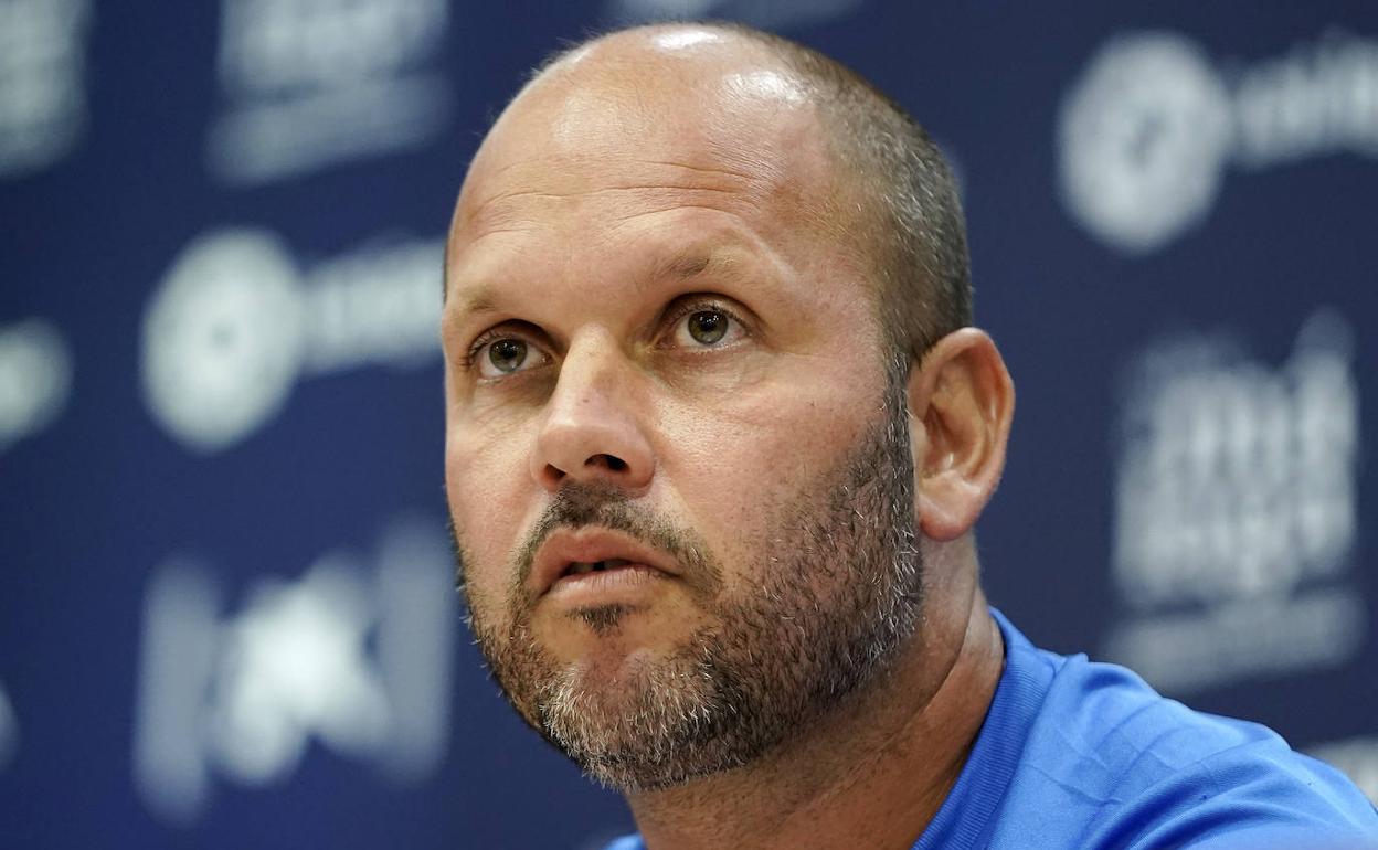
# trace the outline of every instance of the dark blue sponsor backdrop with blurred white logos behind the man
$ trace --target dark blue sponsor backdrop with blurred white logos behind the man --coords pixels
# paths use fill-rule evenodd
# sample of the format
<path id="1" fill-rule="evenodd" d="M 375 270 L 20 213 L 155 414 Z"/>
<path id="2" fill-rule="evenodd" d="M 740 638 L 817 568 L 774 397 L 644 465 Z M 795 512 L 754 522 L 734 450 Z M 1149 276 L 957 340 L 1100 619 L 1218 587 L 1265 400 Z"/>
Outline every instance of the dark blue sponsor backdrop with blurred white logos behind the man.
<path id="1" fill-rule="evenodd" d="M 951 153 L 1020 386 L 991 598 L 1378 796 L 1371 3 L 0 0 L 6 847 L 630 825 L 463 630 L 435 320 L 524 69 L 674 14 L 841 56 Z"/>

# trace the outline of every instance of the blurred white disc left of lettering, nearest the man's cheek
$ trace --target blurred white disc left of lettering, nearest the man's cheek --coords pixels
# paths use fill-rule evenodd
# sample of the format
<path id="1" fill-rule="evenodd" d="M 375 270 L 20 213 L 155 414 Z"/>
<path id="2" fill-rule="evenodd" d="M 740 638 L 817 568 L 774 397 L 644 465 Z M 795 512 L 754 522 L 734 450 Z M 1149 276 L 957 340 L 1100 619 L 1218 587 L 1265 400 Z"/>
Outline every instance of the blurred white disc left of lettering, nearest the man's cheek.
<path id="1" fill-rule="evenodd" d="M 219 450 L 281 409 L 300 362 L 298 287 L 270 233 L 220 230 L 183 249 L 143 320 L 143 390 L 172 437 Z"/>

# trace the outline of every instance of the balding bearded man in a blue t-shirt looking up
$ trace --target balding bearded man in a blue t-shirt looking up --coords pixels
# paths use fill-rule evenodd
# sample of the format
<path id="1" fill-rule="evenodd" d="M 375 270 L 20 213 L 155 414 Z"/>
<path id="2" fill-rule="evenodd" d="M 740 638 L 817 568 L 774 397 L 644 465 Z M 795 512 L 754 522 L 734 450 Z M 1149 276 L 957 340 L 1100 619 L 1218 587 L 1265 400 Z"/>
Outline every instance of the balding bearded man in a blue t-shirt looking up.
<path id="1" fill-rule="evenodd" d="M 617 847 L 1378 842 L 1271 732 L 987 606 L 1013 384 L 941 156 L 852 72 L 723 25 L 566 51 L 474 157 L 446 277 L 473 628 L 627 795 Z"/>

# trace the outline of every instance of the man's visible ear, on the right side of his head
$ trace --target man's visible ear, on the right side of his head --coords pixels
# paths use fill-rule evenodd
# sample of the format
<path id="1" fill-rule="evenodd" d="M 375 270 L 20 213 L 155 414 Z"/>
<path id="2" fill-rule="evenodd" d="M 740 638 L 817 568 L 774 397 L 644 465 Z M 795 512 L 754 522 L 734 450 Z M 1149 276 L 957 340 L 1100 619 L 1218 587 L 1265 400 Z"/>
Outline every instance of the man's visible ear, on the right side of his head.
<path id="1" fill-rule="evenodd" d="M 1005 470 L 1014 382 L 995 342 L 962 328 L 909 372 L 907 395 L 919 529 L 955 540 L 976 525 Z"/>

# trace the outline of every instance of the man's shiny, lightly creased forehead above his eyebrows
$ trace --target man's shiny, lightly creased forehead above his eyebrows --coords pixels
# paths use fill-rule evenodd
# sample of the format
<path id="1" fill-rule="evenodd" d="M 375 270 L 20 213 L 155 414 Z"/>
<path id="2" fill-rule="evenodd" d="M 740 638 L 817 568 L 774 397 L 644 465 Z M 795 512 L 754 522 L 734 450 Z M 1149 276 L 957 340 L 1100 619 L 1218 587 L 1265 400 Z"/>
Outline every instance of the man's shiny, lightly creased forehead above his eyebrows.
<path id="1" fill-rule="evenodd" d="M 821 219 L 836 180 L 803 84 L 751 56 L 664 52 L 576 58 L 518 96 L 470 168 L 451 251 L 570 205 L 628 200 Z"/>

